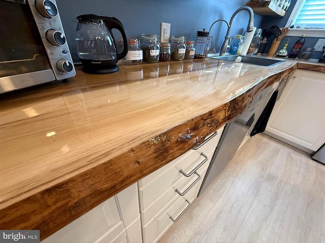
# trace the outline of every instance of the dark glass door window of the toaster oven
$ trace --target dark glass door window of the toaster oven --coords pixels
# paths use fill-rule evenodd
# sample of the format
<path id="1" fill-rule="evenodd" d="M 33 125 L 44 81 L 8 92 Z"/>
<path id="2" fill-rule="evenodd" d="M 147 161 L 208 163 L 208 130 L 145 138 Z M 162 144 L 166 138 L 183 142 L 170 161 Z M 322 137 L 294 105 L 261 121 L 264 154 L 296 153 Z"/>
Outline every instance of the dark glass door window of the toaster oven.
<path id="1" fill-rule="evenodd" d="M 0 0 L 0 77 L 50 69 L 29 6 Z"/>

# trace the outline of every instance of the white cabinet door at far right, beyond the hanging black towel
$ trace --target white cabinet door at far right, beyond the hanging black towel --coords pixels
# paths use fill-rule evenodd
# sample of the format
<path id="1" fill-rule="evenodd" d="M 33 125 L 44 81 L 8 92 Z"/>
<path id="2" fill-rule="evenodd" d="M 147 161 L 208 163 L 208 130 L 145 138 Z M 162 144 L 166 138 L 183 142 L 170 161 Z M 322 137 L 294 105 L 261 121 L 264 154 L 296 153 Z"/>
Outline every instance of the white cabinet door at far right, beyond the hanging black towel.
<path id="1" fill-rule="evenodd" d="M 325 143 L 325 75 L 295 70 L 276 102 L 266 134 L 308 153 Z"/>

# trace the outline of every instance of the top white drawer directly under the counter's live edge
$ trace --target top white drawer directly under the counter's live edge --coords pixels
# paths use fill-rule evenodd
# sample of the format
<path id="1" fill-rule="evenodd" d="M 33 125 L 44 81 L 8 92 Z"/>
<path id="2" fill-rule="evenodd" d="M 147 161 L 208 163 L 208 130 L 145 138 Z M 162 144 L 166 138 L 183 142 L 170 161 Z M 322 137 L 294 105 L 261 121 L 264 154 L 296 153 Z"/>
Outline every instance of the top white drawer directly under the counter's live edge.
<path id="1" fill-rule="evenodd" d="M 202 143 L 201 146 L 199 146 L 199 148 L 196 149 L 196 151 L 198 153 L 203 152 L 204 154 L 209 154 L 211 151 L 214 151 L 216 146 L 218 145 L 218 142 L 220 140 L 222 131 L 223 131 L 223 127 L 219 128 L 216 132 L 217 134 L 214 136 L 214 133 L 210 134 L 204 143 Z M 211 138 L 211 139 L 209 139 Z M 188 153 L 193 151 L 193 149 L 187 151 L 186 153 L 180 155 L 179 157 L 177 157 L 176 159 L 174 159 L 173 161 L 171 161 L 169 164 L 161 167 L 160 169 L 154 171 L 153 173 L 151 173 L 150 175 L 146 176 L 145 178 L 143 178 L 140 182 L 139 182 L 139 188 L 147 185 L 148 183 L 150 183 L 151 181 L 155 180 L 159 175 L 163 174 L 164 172 L 166 172 L 169 168 L 173 167 L 177 161 L 179 159 L 183 159 L 184 157 L 188 156 Z"/>

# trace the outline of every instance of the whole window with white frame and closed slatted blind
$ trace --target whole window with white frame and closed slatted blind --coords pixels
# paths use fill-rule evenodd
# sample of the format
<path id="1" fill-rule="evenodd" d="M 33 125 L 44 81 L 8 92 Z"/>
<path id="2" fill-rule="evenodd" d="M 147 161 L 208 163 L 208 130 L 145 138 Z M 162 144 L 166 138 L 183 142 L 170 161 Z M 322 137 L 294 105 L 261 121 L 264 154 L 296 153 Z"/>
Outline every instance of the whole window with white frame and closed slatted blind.
<path id="1" fill-rule="evenodd" d="M 296 5 L 286 23 L 295 29 L 312 30 L 313 32 L 325 32 L 325 0 L 297 0 Z M 309 31 L 310 32 L 310 31 Z"/>

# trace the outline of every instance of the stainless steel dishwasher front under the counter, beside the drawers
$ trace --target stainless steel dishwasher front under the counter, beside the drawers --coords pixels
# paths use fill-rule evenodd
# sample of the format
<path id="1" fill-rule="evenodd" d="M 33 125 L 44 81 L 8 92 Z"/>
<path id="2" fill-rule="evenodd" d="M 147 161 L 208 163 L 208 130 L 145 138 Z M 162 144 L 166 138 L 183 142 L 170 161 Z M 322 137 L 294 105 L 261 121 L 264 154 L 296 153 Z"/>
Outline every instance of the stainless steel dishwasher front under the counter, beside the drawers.
<path id="1" fill-rule="evenodd" d="M 233 121 L 225 125 L 200 188 L 199 195 L 234 157 L 241 144 L 250 137 L 257 119 L 261 116 L 271 95 L 278 86 L 279 83 L 275 83 L 274 85 L 258 92 L 245 111 L 235 117 Z"/>

